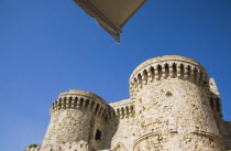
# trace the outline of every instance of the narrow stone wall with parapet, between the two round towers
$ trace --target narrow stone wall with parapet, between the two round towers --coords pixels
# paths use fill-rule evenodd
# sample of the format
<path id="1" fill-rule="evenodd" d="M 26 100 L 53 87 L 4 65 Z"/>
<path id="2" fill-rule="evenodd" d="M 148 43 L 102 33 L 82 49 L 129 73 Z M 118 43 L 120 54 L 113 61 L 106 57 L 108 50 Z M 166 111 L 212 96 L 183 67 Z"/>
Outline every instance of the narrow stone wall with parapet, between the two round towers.
<path id="1" fill-rule="evenodd" d="M 108 143 L 105 144 L 105 148 L 112 151 L 119 149 L 131 151 L 135 136 L 134 104 L 132 100 L 125 99 L 110 104 L 110 106 L 109 120 L 106 123 Z"/>

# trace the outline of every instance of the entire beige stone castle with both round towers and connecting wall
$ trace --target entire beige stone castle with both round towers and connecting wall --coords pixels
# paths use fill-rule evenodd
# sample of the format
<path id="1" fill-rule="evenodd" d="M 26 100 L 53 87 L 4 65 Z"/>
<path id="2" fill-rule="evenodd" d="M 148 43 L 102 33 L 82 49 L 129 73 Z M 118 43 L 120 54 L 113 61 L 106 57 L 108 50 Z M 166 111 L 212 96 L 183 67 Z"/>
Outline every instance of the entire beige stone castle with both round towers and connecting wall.
<path id="1" fill-rule="evenodd" d="M 131 98 L 107 104 L 82 90 L 61 94 L 41 148 L 26 151 L 229 151 L 213 78 L 196 61 L 168 55 L 139 65 Z"/>

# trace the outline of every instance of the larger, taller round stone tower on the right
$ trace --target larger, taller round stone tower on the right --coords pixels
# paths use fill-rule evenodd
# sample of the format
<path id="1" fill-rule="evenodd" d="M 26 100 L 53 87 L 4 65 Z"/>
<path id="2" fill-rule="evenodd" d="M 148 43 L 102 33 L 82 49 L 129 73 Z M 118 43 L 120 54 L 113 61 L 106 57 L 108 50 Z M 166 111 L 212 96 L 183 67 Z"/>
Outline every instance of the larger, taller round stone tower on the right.
<path id="1" fill-rule="evenodd" d="M 139 65 L 130 77 L 134 151 L 223 151 L 209 93 L 207 72 L 194 60 L 168 55 Z"/>

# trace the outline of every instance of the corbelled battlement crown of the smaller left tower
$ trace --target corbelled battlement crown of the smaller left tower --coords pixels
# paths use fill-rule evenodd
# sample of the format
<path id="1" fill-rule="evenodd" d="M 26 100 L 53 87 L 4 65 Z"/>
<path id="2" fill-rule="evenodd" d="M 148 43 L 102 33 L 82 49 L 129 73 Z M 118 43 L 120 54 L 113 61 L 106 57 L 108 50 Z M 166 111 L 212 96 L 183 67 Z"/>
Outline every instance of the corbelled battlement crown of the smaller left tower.
<path id="1" fill-rule="evenodd" d="M 59 98 L 52 105 L 51 114 L 62 109 L 81 109 L 106 117 L 108 104 L 101 97 L 92 93 L 72 89 L 59 95 Z"/>

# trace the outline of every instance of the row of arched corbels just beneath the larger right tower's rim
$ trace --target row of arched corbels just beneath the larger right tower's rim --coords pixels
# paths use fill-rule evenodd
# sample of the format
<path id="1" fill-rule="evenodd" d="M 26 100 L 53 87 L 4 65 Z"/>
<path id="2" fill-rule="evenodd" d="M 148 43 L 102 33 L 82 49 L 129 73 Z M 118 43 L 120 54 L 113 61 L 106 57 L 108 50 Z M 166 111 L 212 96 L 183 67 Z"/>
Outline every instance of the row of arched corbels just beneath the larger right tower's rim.
<path id="1" fill-rule="evenodd" d="M 146 69 L 150 68 L 150 69 Z M 204 67 L 190 65 L 189 63 L 179 63 L 166 61 L 162 62 L 162 64 L 156 63 L 151 65 L 151 67 L 146 67 L 138 71 L 136 74 L 132 75 L 131 83 L 131 91 L 135 88 L 142 88 L 143 85 L 152 83 L 153 80 L 161 80 L 170 78 L 182 78 L 195 83 L 197 85 L 201 85 L 202 82 L 207 80 L 205 72 L 201 71 Z M 147 72 L 148 71 L 148 72 Z M 201 82 L 202 80 L 202 82 Z"/>

